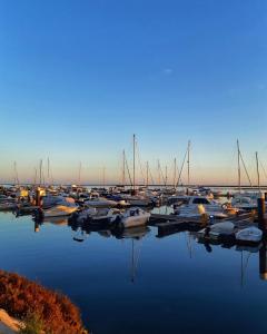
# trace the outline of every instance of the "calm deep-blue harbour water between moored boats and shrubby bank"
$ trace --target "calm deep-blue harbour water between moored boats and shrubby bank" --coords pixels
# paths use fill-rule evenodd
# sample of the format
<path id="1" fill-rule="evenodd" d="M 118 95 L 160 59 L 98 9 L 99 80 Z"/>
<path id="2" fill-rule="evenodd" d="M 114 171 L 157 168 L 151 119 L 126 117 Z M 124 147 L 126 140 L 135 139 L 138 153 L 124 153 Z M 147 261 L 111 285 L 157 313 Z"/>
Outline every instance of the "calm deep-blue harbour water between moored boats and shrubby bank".
<path id="1" fill-rule="evenodd" d="M 1 213 L 0 267 L 62 291 L 93 334 L 266 333 L 258 253 L 207 252 L 189 233 L 158 238 L 157 228 L 78 243 L 79 232 L 53 223 L 36 233 L 29 216 Z"/>

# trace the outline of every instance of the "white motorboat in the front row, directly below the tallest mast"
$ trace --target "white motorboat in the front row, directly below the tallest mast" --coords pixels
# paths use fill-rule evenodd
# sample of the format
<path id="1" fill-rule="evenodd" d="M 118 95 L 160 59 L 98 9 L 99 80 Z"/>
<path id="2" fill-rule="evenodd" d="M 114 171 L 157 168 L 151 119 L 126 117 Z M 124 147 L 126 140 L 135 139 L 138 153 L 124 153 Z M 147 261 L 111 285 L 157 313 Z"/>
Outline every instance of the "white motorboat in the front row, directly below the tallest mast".
<path id="1" fill-rule="evenodd" d="M 146 225 L 150 218 L 150 213 L 142 210 L 139 207 L 132 207 L 126 210 L 120 216 L 120 226 L 128 228 L 134 226 Z"/>

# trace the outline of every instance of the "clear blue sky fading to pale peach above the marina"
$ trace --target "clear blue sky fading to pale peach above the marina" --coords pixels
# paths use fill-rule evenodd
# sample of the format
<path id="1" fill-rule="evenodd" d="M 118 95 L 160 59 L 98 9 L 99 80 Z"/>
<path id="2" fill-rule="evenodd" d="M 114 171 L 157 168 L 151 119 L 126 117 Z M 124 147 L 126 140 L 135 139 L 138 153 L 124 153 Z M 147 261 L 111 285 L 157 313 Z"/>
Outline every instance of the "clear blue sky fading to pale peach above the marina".
<path id="1" fill-rule="evenodd" d="M 0 0 L 0 183 L 48 157 L 58 183 L 117 183 L 136 134 L 155 179 L 190 139 L 192 183 L 236 184 L 238 138 L 267 184 L 266 128 L 266 0 Z"/>

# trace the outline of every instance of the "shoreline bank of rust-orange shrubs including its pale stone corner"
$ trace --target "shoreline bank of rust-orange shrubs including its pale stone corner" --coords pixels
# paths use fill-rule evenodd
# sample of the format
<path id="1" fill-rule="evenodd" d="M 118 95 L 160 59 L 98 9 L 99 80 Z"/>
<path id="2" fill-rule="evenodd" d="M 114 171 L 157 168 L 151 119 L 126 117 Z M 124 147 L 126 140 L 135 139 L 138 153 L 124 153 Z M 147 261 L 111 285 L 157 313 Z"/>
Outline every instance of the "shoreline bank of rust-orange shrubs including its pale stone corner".
<path id="1" fill-rule="evenodd" d="M 88 334 L 79 308 L 67 296 L 1 269 L 0 308 L 0 324 L 10 333 Z"/>

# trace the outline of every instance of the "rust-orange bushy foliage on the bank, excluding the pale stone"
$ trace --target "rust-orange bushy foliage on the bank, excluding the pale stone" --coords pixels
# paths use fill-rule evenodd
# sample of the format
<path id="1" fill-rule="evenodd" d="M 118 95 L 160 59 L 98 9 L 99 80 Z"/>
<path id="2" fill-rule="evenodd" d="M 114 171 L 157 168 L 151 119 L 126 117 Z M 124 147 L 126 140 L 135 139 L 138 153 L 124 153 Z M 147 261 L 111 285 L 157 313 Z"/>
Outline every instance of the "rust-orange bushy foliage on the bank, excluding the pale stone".
<path id="1" fill-rule="evenodd" d="M 46 333 L 86 333 L 78 307 L 67 296 L 18 274 L 0 271 L 0 308 L 20 320 L 29 313 L 37 314 Z"/>

